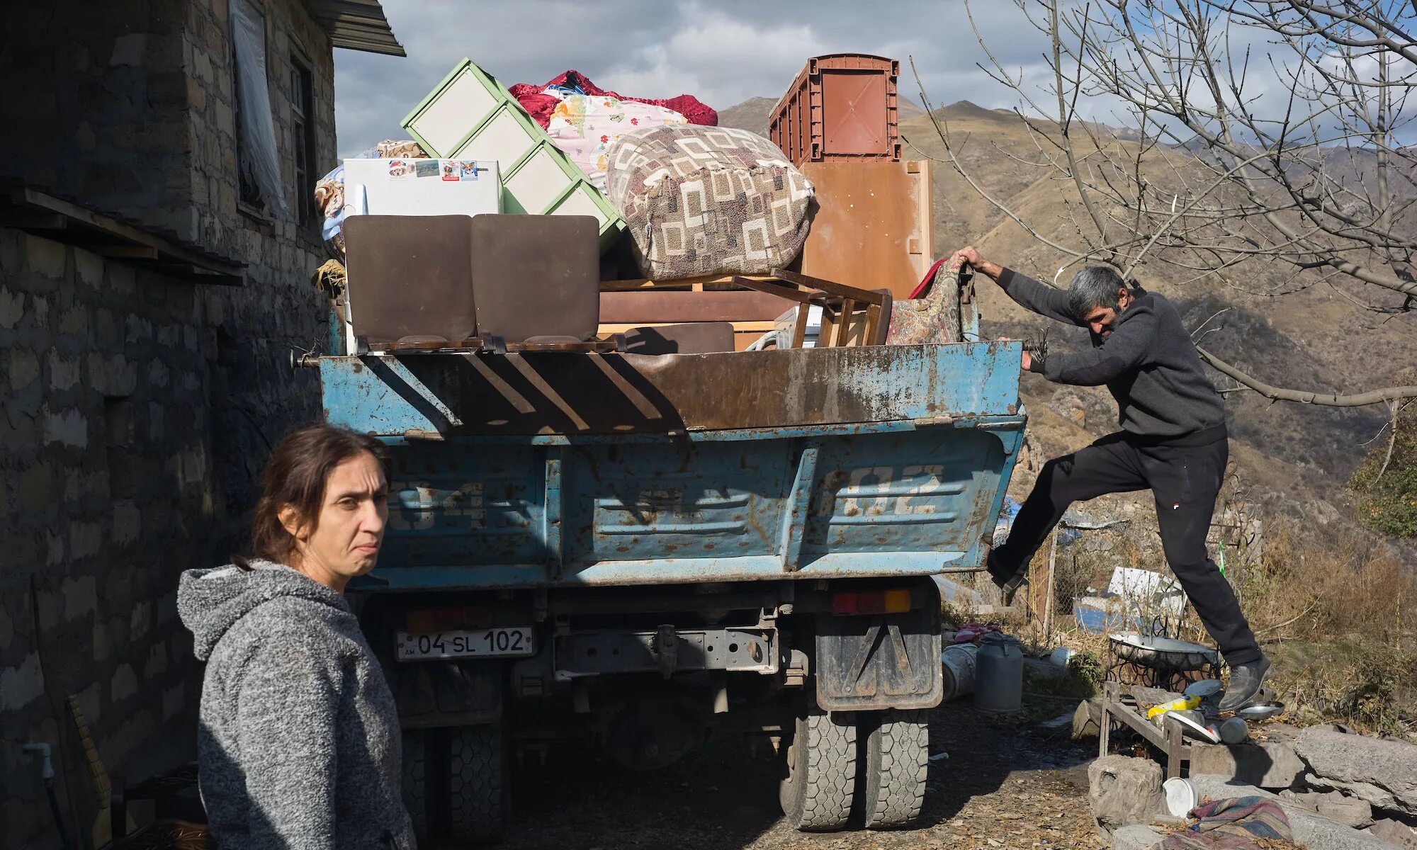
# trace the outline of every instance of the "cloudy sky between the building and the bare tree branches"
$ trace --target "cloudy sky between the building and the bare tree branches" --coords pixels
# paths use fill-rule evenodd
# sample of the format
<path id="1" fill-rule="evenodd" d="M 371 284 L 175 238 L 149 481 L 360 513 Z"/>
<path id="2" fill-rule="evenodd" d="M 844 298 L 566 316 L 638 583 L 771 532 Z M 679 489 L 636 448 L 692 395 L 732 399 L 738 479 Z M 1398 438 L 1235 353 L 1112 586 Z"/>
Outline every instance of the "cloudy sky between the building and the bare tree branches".
<path id="1" fill-rule="evenodd" d="M 625 95 L 697 96 L 716 109 L 778 98 L 808 57 L 866 52 L 901 61 L 900 91 L 931 101 L 1013 106 L 975 67 L 983 54 L 962 0 L 383 0 L 408 58 L 334 51 L 343 156 L 387 137 L 463 57 L 502 82 L 540 84 L 577 69 Z M 1007 0 L 972 3 L 1000 62 L 1044 72 L 1043 40 Z"/>

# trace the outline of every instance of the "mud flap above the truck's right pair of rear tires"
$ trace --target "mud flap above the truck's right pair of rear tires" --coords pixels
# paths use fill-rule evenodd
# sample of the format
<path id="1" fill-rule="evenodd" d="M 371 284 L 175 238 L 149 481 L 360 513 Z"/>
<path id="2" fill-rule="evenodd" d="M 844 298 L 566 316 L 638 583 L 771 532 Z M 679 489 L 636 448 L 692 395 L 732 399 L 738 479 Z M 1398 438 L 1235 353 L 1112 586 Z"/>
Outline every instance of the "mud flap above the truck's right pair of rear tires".
<path id="1" fill-rule="evenodd" d="M 934 708 L 944 697 L 939 612 L 816 620 L 816 701 L 828 711 Z"/>

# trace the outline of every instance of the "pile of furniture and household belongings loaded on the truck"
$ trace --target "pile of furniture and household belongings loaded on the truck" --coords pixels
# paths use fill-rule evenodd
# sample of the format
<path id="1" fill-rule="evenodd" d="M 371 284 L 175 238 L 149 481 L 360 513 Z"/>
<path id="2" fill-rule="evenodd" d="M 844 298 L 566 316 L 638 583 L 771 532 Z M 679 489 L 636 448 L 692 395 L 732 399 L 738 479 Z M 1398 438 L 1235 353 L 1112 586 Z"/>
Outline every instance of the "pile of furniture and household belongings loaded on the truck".
<path id="1" fill-rule="evenodd" d="M 337 344 L 686 353 L 748 347 L 775 322 L 778 346 L 881 344 L 887 329 L 958 341 L 958 309 L 944 322 L 938 302 L 959 269 L 937 264 L 915 286 L 932 255 L 930 170 L 900 162 L 897 71 L 811 60 L 772 118 L 779 147 L 714 126 L 689 95 L 626 98 L 574 71 L 507 89 L 463 60 L 405 116 L 410 140 L 316 188 L 347 265 Z M 837 110 L 826 129 L 822 103 Z M 628 262 L 642 279 L 618 279 Z"/>

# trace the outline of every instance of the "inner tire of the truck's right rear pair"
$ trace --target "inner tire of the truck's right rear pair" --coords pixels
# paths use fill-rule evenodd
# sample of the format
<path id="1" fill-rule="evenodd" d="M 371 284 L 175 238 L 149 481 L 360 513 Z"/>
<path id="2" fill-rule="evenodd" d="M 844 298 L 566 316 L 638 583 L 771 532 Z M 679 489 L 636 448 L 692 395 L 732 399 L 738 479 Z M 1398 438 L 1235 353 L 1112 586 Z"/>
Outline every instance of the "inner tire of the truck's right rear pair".
<path id="1" fill-rule="evenodd" d="M 808 711 L 796 718 L 786 761 L 778 800 L 788 823 L 803 832 L 843 829 L 856 790 L 856 725 Z"/>

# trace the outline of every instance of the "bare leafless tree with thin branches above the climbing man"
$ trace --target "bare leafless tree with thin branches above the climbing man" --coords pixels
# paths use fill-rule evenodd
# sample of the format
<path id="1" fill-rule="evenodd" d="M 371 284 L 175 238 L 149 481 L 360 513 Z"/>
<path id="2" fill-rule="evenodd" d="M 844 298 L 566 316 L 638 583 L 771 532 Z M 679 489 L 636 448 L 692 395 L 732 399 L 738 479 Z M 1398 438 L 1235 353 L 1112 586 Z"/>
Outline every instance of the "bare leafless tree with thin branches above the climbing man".
<path id="1" fill-rule="evenodd" d="M 1360 307 L 1417 314 L 1417 4 L 1407 0 L 1015 0 L 1046 37 L 1046 81 L 1010 71 L 979 37 L 981 68 L 1020 98 L 1036 150 L 1016 157 L 1067 186 L 1070 237 L 1027 221 L 961 162 L 1005 215 L 1064 256 L 1131 278 L 1144 261 L 1189 279 L 1247 261 L 1288 272 L 1267 295 L 1332 285 Z M 971 24 L 975 24 L 965 0 Z M 975 26 L 975 34 L 979 34 Z M 917 76 L 918 81 L 918 76 Z M 1080 118 L 1080 103 L 1112 119 Z M 1417 106 L 1417 105 L 1414 105 Z M 1114 129 L 1124 128 L 1124 129 Z M 1250 262 L 1246 268 L 1254 268 Z M 1067 266 L 1064 266 L 1067 268 Z M 1394 405 L 1417 387 L 1352 394 L 1272 387 L 1202 348 L 1271 400 Z"/>

